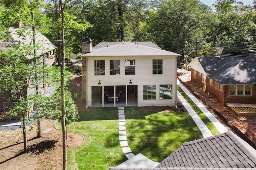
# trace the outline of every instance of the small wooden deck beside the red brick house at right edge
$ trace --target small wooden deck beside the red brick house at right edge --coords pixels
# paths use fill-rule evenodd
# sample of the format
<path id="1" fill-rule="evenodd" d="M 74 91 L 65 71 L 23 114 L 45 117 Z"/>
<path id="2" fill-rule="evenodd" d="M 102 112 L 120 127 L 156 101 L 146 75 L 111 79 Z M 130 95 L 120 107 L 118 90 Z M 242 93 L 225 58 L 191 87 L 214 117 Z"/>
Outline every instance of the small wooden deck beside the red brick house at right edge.
<path id="1" fill-rule="evenodd" d="M 227 106 L 238 114 L 238 118 L 242 115 L 256 115 L 256 104 L 227 103 Z"/>

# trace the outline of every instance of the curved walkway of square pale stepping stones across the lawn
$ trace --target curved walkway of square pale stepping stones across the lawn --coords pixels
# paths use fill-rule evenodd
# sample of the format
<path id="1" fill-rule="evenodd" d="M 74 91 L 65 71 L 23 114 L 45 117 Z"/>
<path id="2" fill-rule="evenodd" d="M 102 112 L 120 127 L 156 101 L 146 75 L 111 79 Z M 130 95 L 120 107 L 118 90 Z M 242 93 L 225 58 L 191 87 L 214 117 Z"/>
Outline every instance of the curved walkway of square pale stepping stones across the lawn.
<path id="1" fill-rule="evenodd" d="M 132 150 L 129 147 L 128 142 L 127 142 L 124 107 L 118 107 L 118 129 L 119 129 L 120 146 L 121 146 L 125 156 L 128 159 L 131 159 L 135 155 L 132 153 Z"/>

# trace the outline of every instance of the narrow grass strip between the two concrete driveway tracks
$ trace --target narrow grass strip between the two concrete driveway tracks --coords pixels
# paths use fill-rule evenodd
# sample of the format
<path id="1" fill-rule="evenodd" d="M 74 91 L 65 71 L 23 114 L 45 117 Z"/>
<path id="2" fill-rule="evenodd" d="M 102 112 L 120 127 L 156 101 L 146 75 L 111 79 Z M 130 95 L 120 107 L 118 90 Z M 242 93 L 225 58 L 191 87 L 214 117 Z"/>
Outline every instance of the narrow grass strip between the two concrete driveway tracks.
<path id="1" fill-rule="evenodd" d="M 197 105 L 188 97 L 188 95 L 180 88 L 180 86 L 177 85 L 177 89 L 180 92 L 180 94 L 186 99 L 188 104 L 194 109 L 196 114 L 202 119 L 204 124 L 208 127 L 208 129 L 212 132 L 213 135 L 219 134 L 220 132 L 217 130 L 217 128 L 213 125 L 213 123 L 206 117 L 206 115 L 197 107 Z"/>

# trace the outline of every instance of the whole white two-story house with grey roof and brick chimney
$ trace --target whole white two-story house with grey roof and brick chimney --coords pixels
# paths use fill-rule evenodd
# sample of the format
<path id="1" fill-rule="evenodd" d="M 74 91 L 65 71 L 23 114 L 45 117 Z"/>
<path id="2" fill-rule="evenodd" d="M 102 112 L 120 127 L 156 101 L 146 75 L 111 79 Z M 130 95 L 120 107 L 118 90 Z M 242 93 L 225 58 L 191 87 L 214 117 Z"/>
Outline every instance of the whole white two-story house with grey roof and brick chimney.
<path id="1" fill-rule="evenodd" d="M 82 99 L 88 107 L 176 106 L 177 53 L 152 42 L 82 40 Z"/>

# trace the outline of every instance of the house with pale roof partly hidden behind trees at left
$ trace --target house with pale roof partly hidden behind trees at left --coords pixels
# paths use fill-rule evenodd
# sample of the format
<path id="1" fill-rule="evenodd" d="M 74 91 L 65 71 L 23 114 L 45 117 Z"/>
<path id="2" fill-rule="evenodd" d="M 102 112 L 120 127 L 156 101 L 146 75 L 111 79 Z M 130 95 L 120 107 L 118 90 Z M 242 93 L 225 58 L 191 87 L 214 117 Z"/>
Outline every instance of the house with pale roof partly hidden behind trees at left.
<path id="1" fill-rule="evenodd" d="M 2 41 L 0 40 L 0 51 L 8 51 L 9 49 L 12 49 L 12 46 L 16 43 L 20 44 L 21 46 L 27 46 L 27 45 L 33 45 L 32 43 L 32 29 L 28 28 L 22 28 L 21 25 L 18 24 L 17 27 L 10 27 L 9 28 L 9 41 Z M 38 48 L 36 49 L 36 56 L 44 56 L 44 60 L 42 63 L 44 65 L 48 65 L 49 67 L 52 67 L 55 65 L 56 61 L 56 47 L 40 32 L 36 30 L 35 34 L 35 43 L 38 45 Z M 25 53 L 22 51 L 22 53 Z M 28 59 L 32 59 L 33 55 L 26 55 Z M 11 76 L 11 75 L 10 75 Z M 45 93 L 45 91 L 48 88 L 48 85 L 40 85 L 40 89 L 42 90 L 42 93 Z M 26 95 L 32 94 L 34 91 L 33 88 L 28 87 Z M 0 113 L 1 115 L 4 115 L 5 112 L 8 112 L 10 107 L 12 105 L 11 100 L 9 100 L 11 96 L 10 91 L 4 91 L 2 94 L 0 94 Z M 17 117 L 10 117 L 8 115 L 5 117 L 2 121 L 10 121 L 10 120 L 16 120 Z M 1 121 L 1 120 L 0 120 Z"/>

